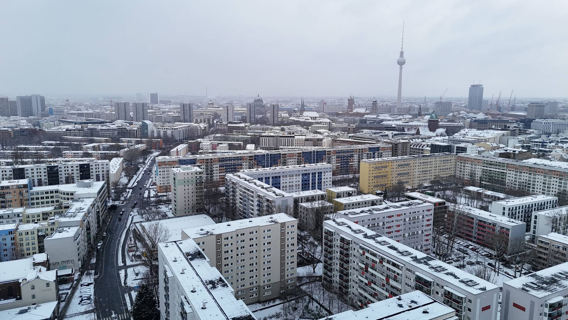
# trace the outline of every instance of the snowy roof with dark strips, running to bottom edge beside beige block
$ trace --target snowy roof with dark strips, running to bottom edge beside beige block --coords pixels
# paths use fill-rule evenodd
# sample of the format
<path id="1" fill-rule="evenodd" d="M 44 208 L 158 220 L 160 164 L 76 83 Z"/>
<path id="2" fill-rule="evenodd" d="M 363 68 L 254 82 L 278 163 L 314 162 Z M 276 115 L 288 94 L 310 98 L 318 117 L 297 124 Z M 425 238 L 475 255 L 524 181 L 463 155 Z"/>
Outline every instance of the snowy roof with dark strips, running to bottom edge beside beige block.
<path id="1" fill-rule="evenodd" d="M 242 319 L 254 317 L 245 303 L 236 300 L 234 290 L 221 273 L 209 265 L 209 259 L 191 239 L 158 244 L 172 271 L 182 286 L 185 298 L 196 318 L 202 320 Z M 177 260 L 177 261 L 174 261 Z M 183 270 L 183 273 L 182 273 Z M 195 292 L 191 289 L 195 287 Z M 205 304 L 207 309 L 201 309 Z"/>

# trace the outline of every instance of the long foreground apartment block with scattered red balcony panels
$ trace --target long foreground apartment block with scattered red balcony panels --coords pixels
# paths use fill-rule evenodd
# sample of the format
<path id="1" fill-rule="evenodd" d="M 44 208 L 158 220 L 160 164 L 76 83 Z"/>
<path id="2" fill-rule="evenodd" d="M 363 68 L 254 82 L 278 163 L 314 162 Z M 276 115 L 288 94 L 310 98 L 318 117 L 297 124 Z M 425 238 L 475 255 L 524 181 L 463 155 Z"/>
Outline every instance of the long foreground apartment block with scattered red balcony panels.
<path id="1" fill-rule="evenodd" d="M 460 320 L 496 320 L 499 287 L 346 219 L 323 224 L 323 281 L 361 307 L 420 290 Z"/>

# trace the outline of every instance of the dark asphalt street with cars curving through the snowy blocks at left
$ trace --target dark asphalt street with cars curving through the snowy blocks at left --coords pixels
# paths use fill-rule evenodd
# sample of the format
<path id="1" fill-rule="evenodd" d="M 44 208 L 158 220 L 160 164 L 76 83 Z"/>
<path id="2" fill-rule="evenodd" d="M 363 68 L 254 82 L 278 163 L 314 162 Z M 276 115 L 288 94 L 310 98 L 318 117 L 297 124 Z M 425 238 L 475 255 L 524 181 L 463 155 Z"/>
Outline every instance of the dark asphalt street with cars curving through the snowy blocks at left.
<path id="1" fill-rule="evenodd" d="M 146 170 L 150 172 L 151 168 L 154 166 L 154 158 L 149 169 Z M 136 179 L 132 178 L 132 179 Z M 95 278 L 95 311 L 97 312 L 97 318 L 103 319 L 110 317 L 112 312 L 115 314 L 123 314 L 126 309 L 126 298 L 124 294 L 128 292 L 126 286 L 124 286 L 123 280 L 120 279 L 118 265 L 118 253 L 124 245 L 120 243 L 120 237 L 124 232 L 124 229 L 128 227 L 128 221 L 131 218 L 132 204 L 134 202 L 140 203 L 140 198 L 144 195 L 146 188 L 144 187 L 148 180 L 151 179 L 151 175 L 143 174 L 140 181 L 132 187 L 132 193 L 130 198 L 124 200 L 122 205 L 116 208 L 115 212 L 109 211 L 110 221 L 106 225 L 106 229 L 99 232 L 98 241 L 102 240 L 103 244 L 101 249 L 97 251 L 96 257 L 97 262 L 95 264 L 95 274 L 98 272 L 98 276 Z M 142 189 L 140 189 L 142 187 Z M 140 195 L 142 192 L 142 196 Z M 135 207 L 136 208 L 136 207 Z M 120 211 L 124 209 L 124 214 L 122 220 L 119 220 Z M 102 238 L 102 233 L 106 232 L 107 236 Z M 128 239 L 124 239 L 126 243 Z M 124 251 L 122 255 L 123 265 L 126 265 L 126 257 L 124 257 Z"/>

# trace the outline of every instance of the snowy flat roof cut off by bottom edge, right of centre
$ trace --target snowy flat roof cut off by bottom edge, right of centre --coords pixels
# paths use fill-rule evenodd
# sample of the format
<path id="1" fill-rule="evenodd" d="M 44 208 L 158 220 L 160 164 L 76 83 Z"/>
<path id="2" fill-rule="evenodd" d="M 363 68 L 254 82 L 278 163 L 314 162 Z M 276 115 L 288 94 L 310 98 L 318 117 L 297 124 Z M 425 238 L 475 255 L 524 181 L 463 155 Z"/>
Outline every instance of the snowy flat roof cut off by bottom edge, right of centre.
<path id="1" fill-rule="evenodd" d="M 428 313 L 423 313 L 428 310 Z M 365 309 L 329 315 L 320 320 L 427 320 L 427 319 L 453 319 L 456 310 L 446 306 L 419 290 L 401 294 L 386 300 L 371 303 Z"/>

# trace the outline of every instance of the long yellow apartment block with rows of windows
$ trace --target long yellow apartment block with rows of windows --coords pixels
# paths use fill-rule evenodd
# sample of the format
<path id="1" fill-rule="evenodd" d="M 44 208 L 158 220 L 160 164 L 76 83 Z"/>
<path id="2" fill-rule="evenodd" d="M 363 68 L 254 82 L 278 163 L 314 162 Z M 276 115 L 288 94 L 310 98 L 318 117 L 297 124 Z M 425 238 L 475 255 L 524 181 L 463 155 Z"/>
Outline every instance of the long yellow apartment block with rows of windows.
<path id="1" fill-rule="evenodd" d="M 362 159 L 359 186 L 365 194 L 396 185 L 417 187 L 432 179 L 453 175 L 455 170 L 456 154 L 450 153 Z"/>

